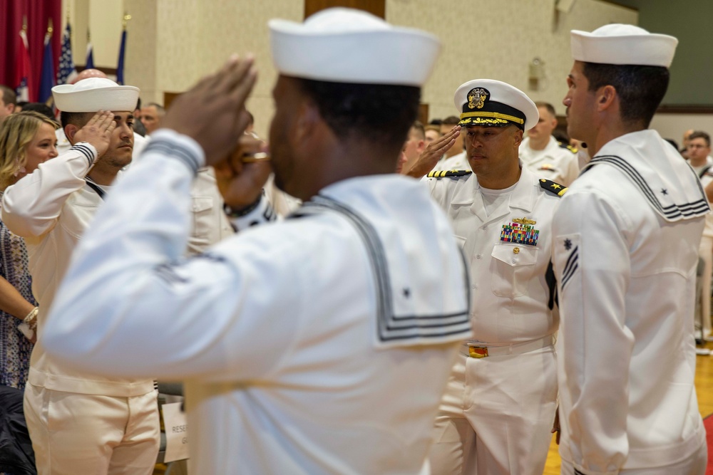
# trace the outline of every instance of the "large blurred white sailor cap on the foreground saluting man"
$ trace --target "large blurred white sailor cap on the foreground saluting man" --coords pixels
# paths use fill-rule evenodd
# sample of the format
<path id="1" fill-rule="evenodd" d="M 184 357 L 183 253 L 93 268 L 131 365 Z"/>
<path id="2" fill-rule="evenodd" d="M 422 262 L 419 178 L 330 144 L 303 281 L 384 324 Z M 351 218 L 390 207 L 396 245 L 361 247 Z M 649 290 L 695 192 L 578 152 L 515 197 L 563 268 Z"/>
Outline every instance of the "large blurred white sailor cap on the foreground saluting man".
<path id="1" fill-rule="evenodd" d="M 277 71 L 334 83 L 421 87 L 441 51 L 431 33 L 391 26 L 361 10 L 332 8 L 304 24 L 270 20 Z"/>

